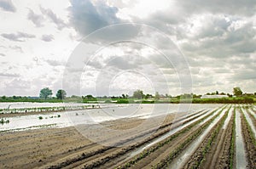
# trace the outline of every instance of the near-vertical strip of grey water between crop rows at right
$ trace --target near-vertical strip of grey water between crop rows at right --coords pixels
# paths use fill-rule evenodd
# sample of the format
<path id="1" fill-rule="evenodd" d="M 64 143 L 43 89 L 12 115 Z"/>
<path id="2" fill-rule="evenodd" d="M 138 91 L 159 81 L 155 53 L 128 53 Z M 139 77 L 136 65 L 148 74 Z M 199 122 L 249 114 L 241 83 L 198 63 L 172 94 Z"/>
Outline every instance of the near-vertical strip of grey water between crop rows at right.
<path id="1" fill-rule="evenodd" d="M 241 113 L 236 109 L 236 169 L 244 169 L 247 166 L 246 153 L 241 134 Z"/>

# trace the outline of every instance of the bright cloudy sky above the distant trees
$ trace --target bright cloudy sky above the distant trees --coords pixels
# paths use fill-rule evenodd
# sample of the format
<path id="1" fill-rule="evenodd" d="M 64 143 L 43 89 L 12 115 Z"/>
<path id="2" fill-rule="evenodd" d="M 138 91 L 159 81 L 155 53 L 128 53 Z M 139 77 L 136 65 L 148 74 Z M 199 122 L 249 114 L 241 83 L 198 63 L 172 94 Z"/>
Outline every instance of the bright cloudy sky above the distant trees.
<path id="1" fill-rule="evenodd" d="M 256 92 L 254 0 L 0 0 L 0 95 Z"/>

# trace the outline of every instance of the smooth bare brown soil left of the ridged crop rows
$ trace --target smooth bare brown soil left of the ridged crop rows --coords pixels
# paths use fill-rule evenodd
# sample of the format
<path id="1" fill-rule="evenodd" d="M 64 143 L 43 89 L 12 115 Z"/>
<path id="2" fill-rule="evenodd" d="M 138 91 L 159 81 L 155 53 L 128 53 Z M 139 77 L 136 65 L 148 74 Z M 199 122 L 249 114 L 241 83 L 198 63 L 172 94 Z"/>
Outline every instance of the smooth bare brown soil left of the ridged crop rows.
<path id="1" fill-rule="evenodd" d="M 170 122 L 173 115 L 168 115 L 164 123 Z M 90 132 L 94 134 L 93 138 L 106 140 L 106 143 L 116 143 L 119 138 L 131 138 L 142 140 L 148 137 L 152 132 L 141 138 L 137 138 L 140 132 L 147 132 L 148 129 L 154 129 L 159 124 L 154 119 L 146 120 L 132 118 L 121 119 L 118 121 L 106 121 L 102 127 L 114 130 L 115 135 L 102 135 L 102 129 L 90 125 Z M 160 119 L 161 122 L 162 119 Z M 144 122 L 144 123 L 143 123 Z M 140 131 L 137 127 L 140 126 Z M 83 126 L 88 127 L 88 126 Z M 79 128 L 80 129 L 80 128 Z M 155 129 L 154 129 L 155 130 Z M 124 137 L 127 136 L 127 137 Z M 74 158 L 78 155 L 94 152 L 97 149 L 104 149 L 106 146 L 94 143 L 85 138 L 75 127 L 64 128 L 42 128 L 27 130 L 21 132 L 0 132 L 0 168 L 32 168 L 38 166 L 52 166 Z M 120 149 L 120 148 L 117 148 Z M 111 151 L 114 151 L 111 149 Z M 96 158 L 94 156 L 94 158 Z"/>

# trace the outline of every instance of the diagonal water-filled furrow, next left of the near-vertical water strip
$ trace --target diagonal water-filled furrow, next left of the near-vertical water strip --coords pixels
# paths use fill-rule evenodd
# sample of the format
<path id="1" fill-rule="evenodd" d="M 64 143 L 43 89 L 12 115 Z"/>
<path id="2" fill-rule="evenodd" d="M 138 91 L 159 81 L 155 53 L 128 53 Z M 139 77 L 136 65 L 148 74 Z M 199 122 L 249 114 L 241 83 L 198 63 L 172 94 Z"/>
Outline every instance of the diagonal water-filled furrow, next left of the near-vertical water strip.
<path id="1" fill-rule="evenodd" d="M 227 108 L 224 109 L 223 112 L 225 112 L 226 110 Z M 215 112 L 214 115 L 217 115 L 219 111 L 221 111 L 221 109 Z M 176 160 L 172 161 L 172 163 L 169 165 L 169 168 L 182 168 L 185 162 L 189 160 L 189 157 L 195 152 L 195 150 L 201 144 L 201 142 L 207 137 L 207 134 L 211 131 L 212 127 L 214 127 L 214 125 L 221 119 L 221 117 L 223 117 L 223 115 L 224 113 L 218 115 L 218 117 L 212 121 L 210 126 L 208 126 L 207 129 L 198 138 L 195 139 L 195 141 L 189 144 L 189 147 L 185 149 L 185 151 L 183 151 L 181 155 L 178 155 Z M 210 118 L 211 117 L 208 117 L 207 121 L 210 120 Z"/>

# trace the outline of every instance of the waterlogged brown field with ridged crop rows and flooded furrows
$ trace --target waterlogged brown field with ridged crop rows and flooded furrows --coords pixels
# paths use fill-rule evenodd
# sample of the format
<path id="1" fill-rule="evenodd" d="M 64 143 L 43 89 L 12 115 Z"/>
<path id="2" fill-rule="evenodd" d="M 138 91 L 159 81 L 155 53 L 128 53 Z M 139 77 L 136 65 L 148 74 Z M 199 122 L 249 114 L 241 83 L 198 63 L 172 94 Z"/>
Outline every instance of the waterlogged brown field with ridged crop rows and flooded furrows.
<path id="1" fill-rule="evenodd" d="M 256 168 L 253 105 L 100 107 L 7 117 L 0 167 Z"/>

